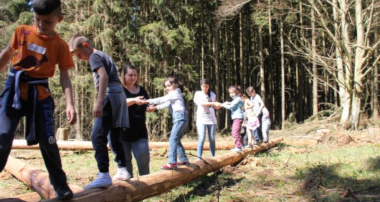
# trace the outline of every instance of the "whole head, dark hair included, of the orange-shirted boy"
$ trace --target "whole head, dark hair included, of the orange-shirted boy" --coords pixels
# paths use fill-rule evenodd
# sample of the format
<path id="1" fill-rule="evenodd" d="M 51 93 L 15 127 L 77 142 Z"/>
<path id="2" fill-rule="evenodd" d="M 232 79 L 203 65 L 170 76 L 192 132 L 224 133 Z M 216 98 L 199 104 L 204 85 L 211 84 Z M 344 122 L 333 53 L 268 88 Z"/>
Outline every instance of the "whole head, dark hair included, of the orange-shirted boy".
<path id="1" fill-rule="evenodd" d="M 60 0 L 34 0 L 34 23 L 37 32 L 45 36 L 55 35 L 55 26 L 63 19 Z"/>

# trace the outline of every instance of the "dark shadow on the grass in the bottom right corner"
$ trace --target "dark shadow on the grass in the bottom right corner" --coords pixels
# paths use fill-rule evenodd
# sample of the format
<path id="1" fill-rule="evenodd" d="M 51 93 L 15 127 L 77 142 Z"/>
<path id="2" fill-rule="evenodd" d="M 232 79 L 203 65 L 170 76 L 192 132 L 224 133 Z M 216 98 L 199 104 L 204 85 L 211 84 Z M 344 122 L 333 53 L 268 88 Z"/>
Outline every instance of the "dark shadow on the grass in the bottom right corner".
<path id="1" fill-rule="evenodd" d="M 373 161 L 372 161 L 373 160 Z M 303 180 L 299 189 L 311 201 L 379 201 L 380 178 L 365 178 L 364 172 L 380 171 L 380 159 L 370 160 L 367 171 L 353 171 L 351 176 L 342 177 L 337 170 L 342 164 L 318 165 L 307 170 L 296 170 L 294 178 Z M 358 162 L 360 163 L 360 162 Z"/>

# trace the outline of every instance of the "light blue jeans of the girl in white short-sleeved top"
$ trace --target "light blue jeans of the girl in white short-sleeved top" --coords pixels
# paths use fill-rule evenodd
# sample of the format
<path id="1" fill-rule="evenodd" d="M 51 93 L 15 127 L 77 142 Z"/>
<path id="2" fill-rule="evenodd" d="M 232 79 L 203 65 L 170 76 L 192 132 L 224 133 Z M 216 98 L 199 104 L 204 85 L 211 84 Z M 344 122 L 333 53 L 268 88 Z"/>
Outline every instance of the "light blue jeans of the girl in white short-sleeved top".
<path id="1" fill-rule="evenodd" d="M 208 140 L 210 142 L 210 152 L 211 156 L 215 156 L 215 131 L 216 124 L 205 125 L 201 123 L 197 123 L 197 131 L 198 131 L 198 147 L 197 147 L 197 156 L 198 159 L 202 157 L 203 153 L 203 145 L 206 139 L 206 130 L 208 130 Z"/>

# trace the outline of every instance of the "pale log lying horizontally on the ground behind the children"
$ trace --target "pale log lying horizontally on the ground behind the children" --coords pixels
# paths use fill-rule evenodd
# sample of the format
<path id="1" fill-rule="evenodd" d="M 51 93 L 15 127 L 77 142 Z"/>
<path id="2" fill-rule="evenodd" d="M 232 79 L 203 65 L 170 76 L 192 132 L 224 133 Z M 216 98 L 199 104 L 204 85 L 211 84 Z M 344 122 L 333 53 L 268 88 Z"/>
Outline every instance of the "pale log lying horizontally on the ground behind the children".
<path id="1" fill-rule="evenodd" d="M 92 143 L 90 141 L 57 141 L 58 148 L 61 150 L 93 150 Z M 183 147 L 186 150 L 196 150 L 197 142 L 182 142 Z M 218 142 L 216 145 L 217 150 L 232 149 L 235 147 L 231 142 Z M 149 142 L 149 149 L 161 149 L 169 148 L 169 142 Z M 38 145 L 28 146 L 25 140 L 13 140 L 12 149 L 39 149 Z M 108 149 L 110 149 L 108 147 Z M 204 150 L 210 150 L 210 145 L 206 142 L 203 146 Z"/>

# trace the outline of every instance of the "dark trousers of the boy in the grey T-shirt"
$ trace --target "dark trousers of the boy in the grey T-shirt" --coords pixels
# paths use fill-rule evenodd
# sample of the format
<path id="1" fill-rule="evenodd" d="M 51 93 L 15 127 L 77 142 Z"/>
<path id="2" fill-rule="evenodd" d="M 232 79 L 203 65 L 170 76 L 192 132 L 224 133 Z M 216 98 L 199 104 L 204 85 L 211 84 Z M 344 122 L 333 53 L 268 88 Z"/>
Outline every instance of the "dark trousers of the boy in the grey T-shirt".
<path id="1" fill-rule="evenodd" d="M 125 155 L 123 146 L 120 141 L 120 131 L 112 129 L 112 108 L 108 102 L 103 107 L 103 116 L 95 118 L 94 128 L 92 129 L 91 141 L 95 150 L 95 159 L 98 163 L 99 172 L 105 173 L 109 171 L 108 156 L 108 136 L 110 138 L 110 147 L 115 154 L 115 161 L 118 167 L 125 167 Z"/>

